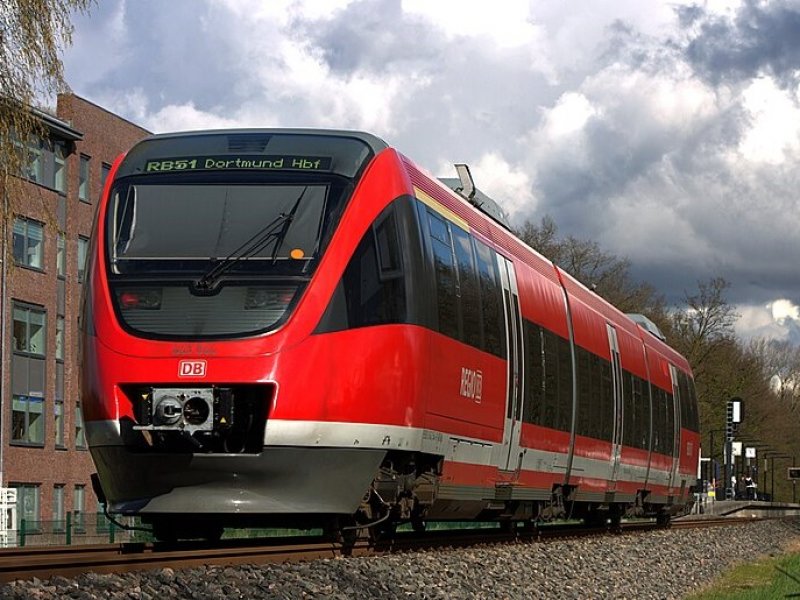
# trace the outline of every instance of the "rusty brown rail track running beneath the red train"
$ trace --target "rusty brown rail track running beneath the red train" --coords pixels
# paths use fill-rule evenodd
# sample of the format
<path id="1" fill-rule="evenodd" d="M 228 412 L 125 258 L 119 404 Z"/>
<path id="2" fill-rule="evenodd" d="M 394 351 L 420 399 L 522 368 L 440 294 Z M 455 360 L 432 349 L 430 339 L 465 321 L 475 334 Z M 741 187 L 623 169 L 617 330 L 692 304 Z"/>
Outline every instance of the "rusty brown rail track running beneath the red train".
<path id="1" fill-rule="evenodd" d="M 671 527 L 713 527 L 749 523 L 756 519 L 673 521 Z M 87 572 L 121 573 L 137 570 L 183 569 L 203 565 L 264 564 L 310 561 L 340 556 L 369 556 L 414 550 L 435 550 L 551 539 L 610 535 L 657 529 L 653 522 L 624 523 L 621 531 L 576 525 L 400 533 L 386 542 L 359 540 L 352 546 L 319 537 L 259 538 L 207 542 L 160 542 L 39 546 L 0 549 L 0 582 L 18 579 L 75 577 Z"/>

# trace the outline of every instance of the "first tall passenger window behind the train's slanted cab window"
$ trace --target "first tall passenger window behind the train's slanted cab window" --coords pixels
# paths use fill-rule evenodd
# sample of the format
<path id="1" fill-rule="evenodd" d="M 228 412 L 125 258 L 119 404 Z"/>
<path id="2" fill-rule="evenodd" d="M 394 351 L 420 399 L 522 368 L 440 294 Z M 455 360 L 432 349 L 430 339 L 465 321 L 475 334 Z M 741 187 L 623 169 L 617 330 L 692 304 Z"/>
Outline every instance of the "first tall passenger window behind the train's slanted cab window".
<path id="1" fill-rule="evenodd" d="M 458 282 L 450 230 L 447 227 L 447 222 L 431 211 L 428 211 L 428 226 L 431 232 L 431 248 L 433 249 L 434 271 L 436 273 L 439 332 L 448 337 L 460 339 L 458 296 L 456 293 Z"/>

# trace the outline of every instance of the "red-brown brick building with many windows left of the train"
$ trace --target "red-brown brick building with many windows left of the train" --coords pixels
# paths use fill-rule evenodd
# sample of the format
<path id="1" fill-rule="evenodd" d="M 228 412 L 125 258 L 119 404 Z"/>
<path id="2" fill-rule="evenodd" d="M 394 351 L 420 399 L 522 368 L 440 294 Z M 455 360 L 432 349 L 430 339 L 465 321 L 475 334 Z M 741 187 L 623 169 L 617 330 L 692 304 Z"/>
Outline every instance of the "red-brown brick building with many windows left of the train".
<path id="1" fill-rule="evenodd" d="M 78 389 L 81 282 L 111 164 L 148 134 L 72 94 L 56 116 L 37 114 L 48 139 L 27 143 L 29 164 L 0 197 L 0 487 L 16 488 L 26 522 L 97 510 Z"/>

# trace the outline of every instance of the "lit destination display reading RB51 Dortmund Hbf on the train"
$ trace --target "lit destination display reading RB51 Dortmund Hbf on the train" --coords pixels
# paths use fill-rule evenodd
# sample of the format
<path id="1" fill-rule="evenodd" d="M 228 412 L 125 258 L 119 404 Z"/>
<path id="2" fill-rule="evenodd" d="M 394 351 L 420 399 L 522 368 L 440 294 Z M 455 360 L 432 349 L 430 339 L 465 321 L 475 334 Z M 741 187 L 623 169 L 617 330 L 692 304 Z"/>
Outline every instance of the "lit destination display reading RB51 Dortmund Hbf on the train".
<path id="1" fill-rule="evenodd" d="M 185 156 L 148 160 L 145 173 L 172 173 L 178 171 L 330 171 L 330 156 L 297 155 L 243 155 Z"/>

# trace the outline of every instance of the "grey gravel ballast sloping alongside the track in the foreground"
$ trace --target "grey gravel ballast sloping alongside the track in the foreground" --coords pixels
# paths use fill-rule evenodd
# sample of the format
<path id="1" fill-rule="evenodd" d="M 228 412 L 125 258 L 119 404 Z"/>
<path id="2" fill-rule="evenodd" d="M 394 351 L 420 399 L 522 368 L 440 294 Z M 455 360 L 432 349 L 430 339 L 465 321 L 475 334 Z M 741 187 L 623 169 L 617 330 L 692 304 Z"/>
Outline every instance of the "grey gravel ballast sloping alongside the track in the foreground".
<path id="1" fill-rule="evenodd" d="M 683 598 L 734 564 L 798 540 L 800 521 L 761 521 L 299 564 L 54 577 L 0 585 L 0 599 Z"/>

